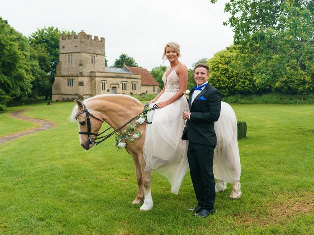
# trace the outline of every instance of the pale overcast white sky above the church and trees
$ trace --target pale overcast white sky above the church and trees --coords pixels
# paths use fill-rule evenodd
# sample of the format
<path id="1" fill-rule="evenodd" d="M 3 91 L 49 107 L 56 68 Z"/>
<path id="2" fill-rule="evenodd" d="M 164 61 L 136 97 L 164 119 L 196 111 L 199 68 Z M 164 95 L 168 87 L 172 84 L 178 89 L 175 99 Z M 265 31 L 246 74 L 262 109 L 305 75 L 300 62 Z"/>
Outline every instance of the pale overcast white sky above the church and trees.
<path id="1" fill-rule="evenodd" d="M 151 70 L 163 64 L 164 45 L 175 41 L 181 47 L 180 60 L 191 68 L 198 59 L 232 44 L 232 29 L 222 25 L 228 19 L 223 10 L 227 1 L 2 0 L 0 16 L 25 36 L 54 26 L 104 37 L 109 66 L 126 53 Z"/>

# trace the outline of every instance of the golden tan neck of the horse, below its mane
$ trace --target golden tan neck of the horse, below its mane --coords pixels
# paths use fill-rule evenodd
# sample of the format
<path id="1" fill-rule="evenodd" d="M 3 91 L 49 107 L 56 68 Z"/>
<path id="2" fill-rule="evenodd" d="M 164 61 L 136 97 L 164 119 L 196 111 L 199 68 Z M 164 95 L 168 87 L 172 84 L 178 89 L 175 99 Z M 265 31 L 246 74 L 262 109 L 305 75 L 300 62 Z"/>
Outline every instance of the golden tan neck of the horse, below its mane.
<path id="1" fill-rule="evenodd" d="M 125 124 L 143 111 L 143 106 L 130 98 L 117 97 L 109 99 L 106 97 L 93 101 L 93 109 L 100 112 L 103 120 L 114 129 Z"/>

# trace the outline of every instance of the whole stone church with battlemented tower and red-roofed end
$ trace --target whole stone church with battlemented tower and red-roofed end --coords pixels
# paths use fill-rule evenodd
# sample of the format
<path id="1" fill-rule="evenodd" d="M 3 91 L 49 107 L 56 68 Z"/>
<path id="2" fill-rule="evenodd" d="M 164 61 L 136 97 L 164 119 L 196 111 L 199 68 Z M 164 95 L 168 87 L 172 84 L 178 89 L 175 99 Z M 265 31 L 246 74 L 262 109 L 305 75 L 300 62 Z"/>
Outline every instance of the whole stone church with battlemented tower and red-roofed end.
<path id="1" fill-rule="evenodd" d="M 81 31 L 60 36 L 59 64 L 52 101 L 70 101 L 78 94 L 158 94 L 159 84 L 144 68 L 105 67 L 105 38 Z"/>

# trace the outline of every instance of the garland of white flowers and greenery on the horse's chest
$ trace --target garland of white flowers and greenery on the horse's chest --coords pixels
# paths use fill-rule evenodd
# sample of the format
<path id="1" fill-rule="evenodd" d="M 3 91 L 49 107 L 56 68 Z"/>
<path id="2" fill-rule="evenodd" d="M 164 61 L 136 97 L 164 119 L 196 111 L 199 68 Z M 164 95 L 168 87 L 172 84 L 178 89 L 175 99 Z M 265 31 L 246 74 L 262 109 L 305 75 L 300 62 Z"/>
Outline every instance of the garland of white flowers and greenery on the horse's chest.
<path id="1" fill-rule="evenodd" d="M 121 133 L 116 133 L 116 140 L 114 145 L 116 146 L 117 150 L 124 148 L 127 144 L 126 141 L 129 141 L 129 143 L 133 144 L 135 139 L 142 137 L 143 132 L 138 131 L 137 127 L 142 125 L 147 119 L 146 116 L 147 110 L 149 110 L 149 105 L 150 103 L 144 104 L 143 113 L 137 116 L 137 120 L 134 123 L 128 124 L 126 129 L 121 130 Z"/>

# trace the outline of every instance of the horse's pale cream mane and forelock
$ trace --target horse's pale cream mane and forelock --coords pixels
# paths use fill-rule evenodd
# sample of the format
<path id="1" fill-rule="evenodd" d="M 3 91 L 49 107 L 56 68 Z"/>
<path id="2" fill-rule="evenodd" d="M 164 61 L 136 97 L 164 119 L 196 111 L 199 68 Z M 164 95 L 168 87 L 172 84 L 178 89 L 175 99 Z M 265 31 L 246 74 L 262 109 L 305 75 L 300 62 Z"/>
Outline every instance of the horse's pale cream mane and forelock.
<path id="1" fill-rule="evenodd" d="M 83 100 L 83 104 L 85 104 L 86 107 L 88 108 L 88 103 L 90 101 L 95 100 L 95 99 L 111 100 L 111 101 L 114 101 L 114 102 L 118 102 L 119 100 L 121 100 L 121 98 L 122 98 L 122 100 L 123 99 L 129 99 L 129 101 L 134 103 L 134 105 L 139 105 L 139 104 L 142 105 L 142 103 L 139 102 L 138 99 L 135 99 L 134 97 L 131 97 L 131 96 L 125 95 L 125 94 L 99 94 L 99 95 L 95 95 L 93 97 L 90 97 L 88 99 Z M 78 113 L 78 105 L 75 105 L 73 107 L 73 110 L 72 110 L 72 113 L 71 113 L 71 115 L 69 117 L 69 120 L 72 121 L 72 122 L 75 122 L 77 113 Z"/>

